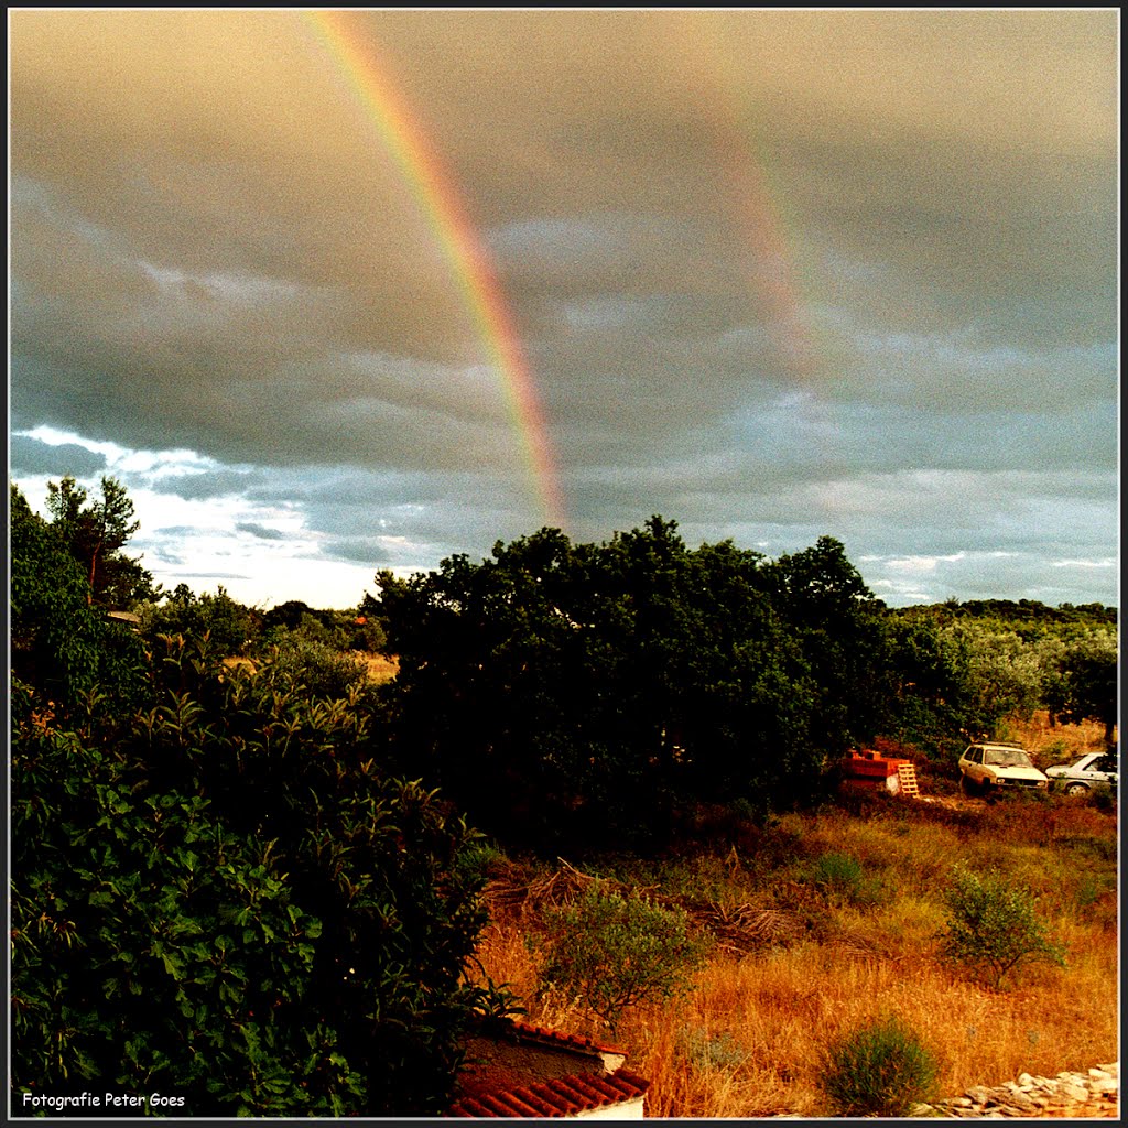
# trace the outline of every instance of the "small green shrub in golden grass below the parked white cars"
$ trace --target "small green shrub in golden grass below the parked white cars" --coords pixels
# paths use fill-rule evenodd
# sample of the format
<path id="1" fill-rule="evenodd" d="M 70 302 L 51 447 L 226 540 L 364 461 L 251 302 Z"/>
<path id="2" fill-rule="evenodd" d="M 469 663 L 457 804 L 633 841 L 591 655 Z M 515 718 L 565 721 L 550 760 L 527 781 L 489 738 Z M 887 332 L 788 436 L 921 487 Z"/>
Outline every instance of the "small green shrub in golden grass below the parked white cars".
<path id="1" fill-rule="evenodd" d="M 957 870 L 944 892 L 946 959 L 973 968 L 995 988 L 1022 963 L 1065 967 L 1065 949 L 1050 941 L 1034 896 L 999 876 Z"/>

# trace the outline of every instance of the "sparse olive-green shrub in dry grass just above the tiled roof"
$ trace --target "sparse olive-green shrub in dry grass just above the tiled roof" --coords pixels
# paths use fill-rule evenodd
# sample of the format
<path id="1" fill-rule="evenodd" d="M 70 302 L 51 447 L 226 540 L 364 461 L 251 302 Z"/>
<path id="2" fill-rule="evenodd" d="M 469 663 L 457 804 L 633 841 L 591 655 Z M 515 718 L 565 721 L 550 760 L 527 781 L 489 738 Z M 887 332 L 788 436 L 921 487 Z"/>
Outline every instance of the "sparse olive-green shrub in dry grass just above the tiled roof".
<path id="1" fill-rule="evenodd" d="M 690 932 L 682 910 L 605 892 L 598 884 L 573 905 L 548 911 L 546 924 L 541 989 L 581 998 L 613 1030 L 628 1006 L 687 992 L 710 948 Z"/>

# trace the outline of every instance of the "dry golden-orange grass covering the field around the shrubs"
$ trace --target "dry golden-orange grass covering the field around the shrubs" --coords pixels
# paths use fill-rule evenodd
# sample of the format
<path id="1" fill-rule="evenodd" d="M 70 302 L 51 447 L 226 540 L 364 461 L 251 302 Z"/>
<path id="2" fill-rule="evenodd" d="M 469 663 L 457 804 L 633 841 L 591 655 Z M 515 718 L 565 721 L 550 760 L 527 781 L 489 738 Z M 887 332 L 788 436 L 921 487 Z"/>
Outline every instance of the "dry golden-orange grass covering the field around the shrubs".
<path id="1" fill-rule="evenodd" d="M 749 904 L 781 905 L 791 895 L 821 927 L 791 946 L 719 953 L 685 998 L 628 1011 L 614 1036 L 578 1001 L 537 998 L 519 916 L 491 925 L 478 957 L 495 982 L 525 999 L 530 1021 L 625 1049 L 629 1067 L 651 1082 L 652 1117 L 825 1116 L 828 1046 L 890 1014 L 937 1058 L 940 1096 L 1022 1072 L 1052 1076 L 1118 1059 L 1114 812 L 1064 800 L 1005 802 L 978 818 L 944 821 L 943 812 L 891 800 L 866 814 L 787 816 L 779 829 L 797 835 L 801 849 L 769 873 L 733 852 L 703 851 L 668 866 L 663 885 L 661 866 L 640 864 L 640 884 L 656 880 L 671 896 L 685 895 L 694 878 L 724 899 L 743 884 Z M 851 904 L 804 887 L 803 866 L 826 853 L 861 862 L 880 879 L 881 896 Z M 1031 885 L 1051 934 L 1068 948 L 1068 966 L 1029 964 L 996 992 L 942 962 L 941 889 L 960 861 Z"/>

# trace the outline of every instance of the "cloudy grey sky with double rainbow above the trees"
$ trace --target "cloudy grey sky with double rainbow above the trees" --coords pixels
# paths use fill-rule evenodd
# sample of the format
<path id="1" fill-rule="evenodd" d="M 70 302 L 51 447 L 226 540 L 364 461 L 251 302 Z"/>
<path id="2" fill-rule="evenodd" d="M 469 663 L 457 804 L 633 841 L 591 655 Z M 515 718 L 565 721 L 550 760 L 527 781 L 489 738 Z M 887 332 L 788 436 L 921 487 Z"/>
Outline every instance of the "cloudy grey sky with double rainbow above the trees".
<path id="1" fill-rule="evenodd" d="M 1119 30 L 9 9 L 10 478 L 264 609 L 652 514 L 1119 605 Z"/>

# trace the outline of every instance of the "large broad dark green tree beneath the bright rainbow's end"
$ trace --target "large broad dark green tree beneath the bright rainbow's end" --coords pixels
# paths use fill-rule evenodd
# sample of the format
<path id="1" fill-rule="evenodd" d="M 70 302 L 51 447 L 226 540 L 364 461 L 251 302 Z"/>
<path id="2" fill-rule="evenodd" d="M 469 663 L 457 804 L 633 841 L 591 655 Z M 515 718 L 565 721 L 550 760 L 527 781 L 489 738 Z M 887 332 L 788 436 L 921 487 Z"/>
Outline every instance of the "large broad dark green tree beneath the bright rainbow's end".
<path id="1" fill-rule="evenodd" d="M 876 721 L 881 620 L 828 538 L 767 565 L 731 541 L 691 550 L 655 517 L 602 545 L 543 529 L 377 579 L 393 752 L 543 848 L 656 845 L 700 802 L 809 802 Z"/>

